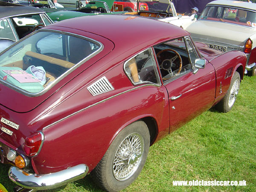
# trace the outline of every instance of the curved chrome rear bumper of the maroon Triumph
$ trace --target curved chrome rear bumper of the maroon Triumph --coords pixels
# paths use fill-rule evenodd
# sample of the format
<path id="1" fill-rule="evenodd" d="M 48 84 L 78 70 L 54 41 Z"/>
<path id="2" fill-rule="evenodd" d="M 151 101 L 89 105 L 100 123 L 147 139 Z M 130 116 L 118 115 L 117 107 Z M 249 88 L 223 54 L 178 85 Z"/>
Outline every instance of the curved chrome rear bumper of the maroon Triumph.
<path id="1" fill-rule="evenodd" d="M 27 189 L 45 190 L 63 186 L 67 183 L 79 180 L 88 173 L 85 164 L 44 175 L 29 174 L 15 166 L 9 169 L 9 178 L 19 186 Z"/>

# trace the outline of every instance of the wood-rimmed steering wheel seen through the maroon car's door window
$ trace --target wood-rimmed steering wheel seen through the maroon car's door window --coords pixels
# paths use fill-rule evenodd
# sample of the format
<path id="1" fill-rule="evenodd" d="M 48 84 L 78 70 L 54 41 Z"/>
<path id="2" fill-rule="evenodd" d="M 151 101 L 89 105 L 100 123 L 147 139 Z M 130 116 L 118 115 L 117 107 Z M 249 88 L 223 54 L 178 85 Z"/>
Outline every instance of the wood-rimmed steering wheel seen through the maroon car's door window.
<path id="1" fill-rule="evenodd" d="M 168 54 L 169 58 L 168 58 L 168 56 L 166 57 L 166 55 L 163 55 L 163 58 L 162 58 L 162 57 L 161 57 L 161 54 L 162 54 L 163 52 L 166 52 L 166 51 L 172 51 L 172 52 L 174 52 L 176 55 L 175 55 L 174 57 L 172 57 L 172 58 L 170 58 L 169 54 Z M 178 58 L 179 61 L 178 61 L 177 64 L 175 64 L 174 61 L 175 61 L 177 58 Z M 159 62 L 160 69 L 163 69 L 163 70 L 168 71 L 168 73 L 169 73 L 170 75 L 173 76 L 172 68 L 175 68 L 175 70 L 178 69 L 177 73 L 175 73 L 176 75 L 180 73 L 181 68 L 182 68 L 182 59 L 181 59 L 181 57 L 180 57 L 180 54 L 179 54 L 177 51 L 175 51 L 175 50 L 173 50 L 173 49 L 163 49 L 163 50 L 161 50 L 160 52 L 157 53 L 157 60 L 158 60 L 158 62 Z M 178 67 L 178 68 L 177 68 L 177 67 Z"/>

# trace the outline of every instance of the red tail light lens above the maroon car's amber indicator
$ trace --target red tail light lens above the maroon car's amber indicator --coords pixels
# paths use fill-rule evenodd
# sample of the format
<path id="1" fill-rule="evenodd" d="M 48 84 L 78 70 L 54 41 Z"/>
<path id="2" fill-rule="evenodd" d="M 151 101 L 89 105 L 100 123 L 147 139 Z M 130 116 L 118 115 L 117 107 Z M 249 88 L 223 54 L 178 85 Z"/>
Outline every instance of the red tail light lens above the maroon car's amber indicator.
<path id="1" fill-rule="evenodd" d="M 30 137 L 26 137 L 25 143 L 23 144 L 23 149 L 27 156 L 35 156 L 43 143 L 43 134 L 41 132 L 36 133 Z"/>

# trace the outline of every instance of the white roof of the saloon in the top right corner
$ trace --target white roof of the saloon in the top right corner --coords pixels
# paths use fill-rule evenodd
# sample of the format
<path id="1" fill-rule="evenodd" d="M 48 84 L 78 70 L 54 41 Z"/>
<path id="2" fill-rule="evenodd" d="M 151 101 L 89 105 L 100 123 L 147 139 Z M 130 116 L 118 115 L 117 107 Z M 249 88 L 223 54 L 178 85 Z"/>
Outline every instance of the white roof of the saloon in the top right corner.
<path id="1" fill-rule="evenodd" d="M 233 0 L 216 0 L 207 4 L 209 5 L 218 5 L 218 6 L 229 6 L 243 9 L 250 9 L 252 11 L 256 11 L 256 3 L 248 3 L 243 1 L 233 1 Z"/>

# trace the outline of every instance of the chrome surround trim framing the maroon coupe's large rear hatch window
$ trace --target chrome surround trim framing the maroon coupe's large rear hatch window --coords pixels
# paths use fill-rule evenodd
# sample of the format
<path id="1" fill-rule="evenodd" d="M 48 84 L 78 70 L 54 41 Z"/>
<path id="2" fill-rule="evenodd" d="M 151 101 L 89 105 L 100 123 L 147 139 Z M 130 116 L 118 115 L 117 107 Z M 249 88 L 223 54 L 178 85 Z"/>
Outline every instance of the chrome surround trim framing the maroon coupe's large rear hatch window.
<path id="1" fill-rule="evenodd" d="M 39 31 L 39 30 L 38 30 Z M 35 34 L 37 33 L 38 31 L 35 31 L 34 33 L 32 34 Z M 94 43 L 98 43 L 99 44 L 99 49 L 96 50 L 95 52 L 91 53 L 90 55 L 88 55 L 86 58 L 84 58 L 83 60 L 81 60 L 79 63 L 75 64 L 74 67 L 71 67 L 69 70 L 67 70 L 65 73 L 63 73 L 61 76 L 59 76 L 57 79 L 55 79 L 55 81 L 53 81 L 51 84 L 49 84 L 49 86 L 47 86 L 45 89 L 41 90 L 40 92 L 38 93 L 30 93 L 26 90 L 23 90 L 19 87 L 15 87 L 13 84 L 10 84 L 6 81 L 3 81 L 2 79 L 0 79 L 1 82 L 3 82 L 4 85 L 6 85 L 7 87 L 11 88 L 11 89 L 14 89 L 20 93 L 22 93 L 23 95 L 25 96 L 30 96 L 30 97 L 35 97 L 35 96 L 41 96 L 43 95 L 45 92 L 47 92 L 52 86 L 54 86 L 55 84 L 57 84 L 59 81 L 61 81 L 62 79 L 64 79 L 64 77 L 66 77 L 69 73 L 71 73 L 72 71 L 76 70 L 78 67 L 80 67 L 82 64 L 84 64 L 85 61 L 89 60 L 90 58 L 92 58 L 94 55 L 97 55 L 99 52 L 101 52 L 104 48 L 103 44 L 100 43 L 99 41 L 96 41 L 94 39 L 91 39 L 91 38 L 87 38 L 85 36 L 82 36 L 82 35 L 77 35 L 77 34 L 74 34 L 74 33 L 71 33 L 71 32 L 63 32 L 63 31 L 60 31 L 60 30 L 55 30 L 55 29 L 40 29 L 39 32 L 42 32 L 42 31 L 45 31 L 45 32 L 49 32 L 49 31 L 56 31 L 56 32 L 59 32 L 61 34 L 72 34 L 74 36 L 79 36 L 83 39 L 86 39 L 86 40 L 90 40 L 90 41 L 93 41 Z M 31 34 L 27 35 L 27 37 L 29 37 Z M 22 38 L 20 41 L 23 41 L 25 38 Z M 20 42 L 19 41 L 19 42 Z M 15 46 L 16 43 L 12 44 L 9 48 Z M 1 54 L 0 54 L 1 55 Z"/>

